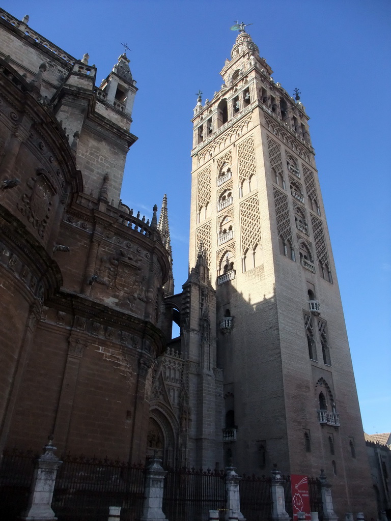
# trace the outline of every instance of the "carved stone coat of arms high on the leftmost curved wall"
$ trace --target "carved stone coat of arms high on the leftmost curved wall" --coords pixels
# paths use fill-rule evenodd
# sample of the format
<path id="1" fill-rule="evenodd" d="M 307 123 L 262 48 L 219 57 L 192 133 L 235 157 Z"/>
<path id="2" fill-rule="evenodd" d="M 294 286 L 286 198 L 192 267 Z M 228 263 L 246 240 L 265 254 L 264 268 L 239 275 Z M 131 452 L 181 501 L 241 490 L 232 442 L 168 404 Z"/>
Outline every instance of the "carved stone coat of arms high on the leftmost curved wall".
<path id="1" fill-rule="evenodd" d="M 17 207 L 43 237 L 52 210 L 54 191 L 43 175 L 30 177 L 26 184 L 28 191 L 22 195 Z"/>

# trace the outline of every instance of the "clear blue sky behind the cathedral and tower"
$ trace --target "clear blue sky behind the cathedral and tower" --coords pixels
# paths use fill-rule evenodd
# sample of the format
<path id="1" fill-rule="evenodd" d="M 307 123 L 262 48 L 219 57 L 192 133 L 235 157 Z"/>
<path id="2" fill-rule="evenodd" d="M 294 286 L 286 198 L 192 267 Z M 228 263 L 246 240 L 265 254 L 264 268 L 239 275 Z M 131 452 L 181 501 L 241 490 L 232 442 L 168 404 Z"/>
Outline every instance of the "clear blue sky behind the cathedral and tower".
<path id="1" fill-rule="evenodd" d="M 248 27 L 310 119 L 344 304 L 363 418 L 369 433 L 391 431 L 391 233 L 388 0 L 40 0 L 2 7 L 106 77 L 123 51 L 139 92 L 122 199 L 150 217 L 168 195 L 176 291 L 186 281 L 190 119 L 196 92 L 212 98 L 229 56 L 235 20 Z"/>

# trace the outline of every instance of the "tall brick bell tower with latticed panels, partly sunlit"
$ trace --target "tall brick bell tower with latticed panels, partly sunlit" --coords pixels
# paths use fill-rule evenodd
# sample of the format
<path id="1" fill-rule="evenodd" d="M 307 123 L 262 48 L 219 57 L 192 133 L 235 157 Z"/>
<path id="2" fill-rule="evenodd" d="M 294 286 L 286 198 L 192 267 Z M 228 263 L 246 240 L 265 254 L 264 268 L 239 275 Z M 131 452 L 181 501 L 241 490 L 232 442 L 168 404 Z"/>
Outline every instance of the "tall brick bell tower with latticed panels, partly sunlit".
<path id="1" fill-rule="evenodd" d="M 334 483 L 338 515 L 371 510 L 370 471 L 322 196 L 300 102 L 239 34 L 194 108 L 190 266 L 216 290 L 226 458 L 240 473 Z"/>

